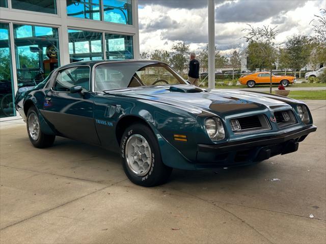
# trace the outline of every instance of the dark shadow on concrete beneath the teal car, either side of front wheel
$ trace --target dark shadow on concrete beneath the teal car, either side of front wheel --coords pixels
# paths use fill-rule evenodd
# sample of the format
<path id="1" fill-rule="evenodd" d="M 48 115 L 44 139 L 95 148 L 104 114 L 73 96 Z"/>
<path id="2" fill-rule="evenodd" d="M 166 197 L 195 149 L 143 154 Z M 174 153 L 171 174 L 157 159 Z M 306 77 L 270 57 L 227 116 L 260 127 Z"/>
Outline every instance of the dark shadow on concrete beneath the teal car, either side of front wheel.
<path id="1" fill-rule="evenodd" d="M 32 146 L 32 145 L 31 145 Z M 68 155 L 80 155 L 76 160 L 83 161 L 83 164 L 88 164 L 89 160 L 92 160 L 90 166 L 120 170 L 123 174 L 122 161 L 118 153 L 108 151 L 102 147 L 89 145 L 86 143 L 57 137 L 52 147 L 44 149 L 50 150 L 52 154 L 58 153 Z M 74 161 L 67 161 L 67 163 L 73 163 Z M 69 167 L 69 166 L 68 166 Z M 270 174 L 273 168 L 270 167 L 270 163 L 267 161 L 259 162 L 253 165 L 231 167 L 228 169 L 209 169 L 209 170 L 178 170 L 174 169 L 172 175 L 167 182 L 167 185 L 186 184 L 202 185 L 202 184 L 221 184 L 223 182 L 257 179 L 267 177 L 267 173 Z M 237 184 L 236 184 L 237 185 Z"/>

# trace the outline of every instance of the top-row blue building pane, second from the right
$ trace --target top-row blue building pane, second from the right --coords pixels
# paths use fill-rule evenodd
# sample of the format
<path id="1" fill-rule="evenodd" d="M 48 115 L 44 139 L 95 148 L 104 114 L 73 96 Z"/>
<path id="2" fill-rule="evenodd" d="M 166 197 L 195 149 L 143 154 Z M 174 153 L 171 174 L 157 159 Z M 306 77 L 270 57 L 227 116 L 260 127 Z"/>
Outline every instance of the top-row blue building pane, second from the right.
<path id="1" fill-rule="evenodd" d="M 99 0 L 67 0 L 67 15 L 84 19 L 101 20 Z"/>

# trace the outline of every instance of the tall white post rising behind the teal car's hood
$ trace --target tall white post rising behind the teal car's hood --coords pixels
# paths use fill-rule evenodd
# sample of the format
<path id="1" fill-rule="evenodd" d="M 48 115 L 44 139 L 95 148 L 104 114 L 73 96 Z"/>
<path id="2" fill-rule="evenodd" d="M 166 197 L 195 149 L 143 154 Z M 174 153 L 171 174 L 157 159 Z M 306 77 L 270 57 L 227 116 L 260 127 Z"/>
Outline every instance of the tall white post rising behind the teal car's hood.
<path id="1" fill-rule="evenodd" d="M 215 4 L 208 0 L 208 88 L 215 88 Z"/>

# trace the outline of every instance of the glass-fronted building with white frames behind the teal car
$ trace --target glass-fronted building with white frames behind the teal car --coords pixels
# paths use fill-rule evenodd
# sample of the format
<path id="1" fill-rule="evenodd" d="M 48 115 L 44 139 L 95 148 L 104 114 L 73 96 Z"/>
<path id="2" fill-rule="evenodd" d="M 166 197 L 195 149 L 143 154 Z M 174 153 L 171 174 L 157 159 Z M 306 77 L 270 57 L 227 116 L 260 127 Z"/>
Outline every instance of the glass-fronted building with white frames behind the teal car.
<path id="1" fill-rule="evenodd" d="M 137 0 L 0 0 L 0 120 L 20 87 L 81 60 L 139 57 Z"/>

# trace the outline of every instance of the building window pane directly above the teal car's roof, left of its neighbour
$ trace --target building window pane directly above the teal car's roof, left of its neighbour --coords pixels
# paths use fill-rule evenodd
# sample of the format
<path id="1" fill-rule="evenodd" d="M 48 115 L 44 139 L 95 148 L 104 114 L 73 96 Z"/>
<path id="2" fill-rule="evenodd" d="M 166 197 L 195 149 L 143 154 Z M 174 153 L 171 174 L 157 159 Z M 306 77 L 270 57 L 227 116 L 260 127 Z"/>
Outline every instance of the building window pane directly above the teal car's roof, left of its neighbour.
<path id="1" fill-rule="evenodd" d="M 102 33 L 68 29 L 70 63 L 103 59 Z"/>

